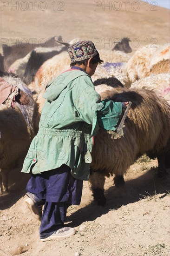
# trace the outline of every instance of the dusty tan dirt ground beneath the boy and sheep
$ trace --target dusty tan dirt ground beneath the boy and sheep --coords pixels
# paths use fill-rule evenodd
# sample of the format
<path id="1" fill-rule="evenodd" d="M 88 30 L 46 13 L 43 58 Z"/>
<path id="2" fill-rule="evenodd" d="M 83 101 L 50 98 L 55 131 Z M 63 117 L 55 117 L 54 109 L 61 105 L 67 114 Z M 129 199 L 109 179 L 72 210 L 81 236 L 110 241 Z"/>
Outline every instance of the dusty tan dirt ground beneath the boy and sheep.
<path id="1" fill-rule="evenodd" d="M 82 202 L 68 208 L 65 222 L 77 234 L 48 242 L 39 240 L 40 222 L 26 208 L 25 189 L 13 184 L 11 193 L 0 198 L 0 255 L 169 256 L 169 180 L 157 177 L 157 160 L 134 163 L 124 188 L 107 179 L 105 207 L 93 202 L 84 182 Z"/>

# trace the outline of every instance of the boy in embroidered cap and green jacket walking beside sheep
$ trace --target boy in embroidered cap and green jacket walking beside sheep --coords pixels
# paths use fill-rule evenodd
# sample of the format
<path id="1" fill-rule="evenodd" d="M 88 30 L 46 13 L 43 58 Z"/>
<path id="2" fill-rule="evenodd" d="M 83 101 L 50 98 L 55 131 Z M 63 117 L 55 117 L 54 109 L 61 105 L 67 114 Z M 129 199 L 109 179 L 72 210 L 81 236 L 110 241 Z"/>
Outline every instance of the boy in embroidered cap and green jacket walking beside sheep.
<path id="1" fill-rule="evenodd" d="M 22 172 L 32 172 L 26 186 L 26 203 L 41 217 L 40 239 L 72 236 L 63 228 L 66 209 L 79 205 L 83 180 L 88 180 L 92 162 L 93 135 L 99 126 L 115 130 L 122 114 L 121 102 L 100 101 L 91 76 L 102 63 L 92 41 L 69 47 L 71 69 L 51 81 L 44 97 L 39 132 L 25 159 Z"/>

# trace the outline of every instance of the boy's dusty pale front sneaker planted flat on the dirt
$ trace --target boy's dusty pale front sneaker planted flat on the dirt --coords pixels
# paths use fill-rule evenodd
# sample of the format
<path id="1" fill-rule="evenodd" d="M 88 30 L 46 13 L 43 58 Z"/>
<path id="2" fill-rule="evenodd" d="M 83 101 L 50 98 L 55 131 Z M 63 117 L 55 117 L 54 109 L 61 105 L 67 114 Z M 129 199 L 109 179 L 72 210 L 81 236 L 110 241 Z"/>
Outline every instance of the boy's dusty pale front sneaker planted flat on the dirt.
<path id="1" fill-rule="evenodd" d="M 73 229 L 73 228 L 61 228 L 61 229 L 58 229 L 56 231 L 54 231 L 54 233 L 51 235 L 51 236 L 48 236 L 46 238 L 40 238 L 41 241 L 48 241 L 48 240 L 55 240 L 55 239 L 58 239 L 58 238 L 65 238 L 65 237 L 68 237 L 68 236 L 73 236 L 76 234 L 76 229 Z"/>

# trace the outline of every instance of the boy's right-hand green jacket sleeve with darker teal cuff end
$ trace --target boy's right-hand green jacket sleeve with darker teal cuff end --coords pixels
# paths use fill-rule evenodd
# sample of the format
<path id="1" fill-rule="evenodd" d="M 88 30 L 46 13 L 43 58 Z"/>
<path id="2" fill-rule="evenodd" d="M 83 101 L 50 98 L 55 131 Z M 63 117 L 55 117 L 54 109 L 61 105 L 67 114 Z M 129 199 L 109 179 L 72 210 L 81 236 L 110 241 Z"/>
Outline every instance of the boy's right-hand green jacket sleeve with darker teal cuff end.
<path id="1" fill-rule="evenodd" d="M 77 97 L 75 96 L 77 95 Z M 100 100 L 91 79 L 79 79 L 73 90 L 73 102 L 82 121 L 92 125 L 92 134 L 97 135 L 99 128 L 116 130 L 119 117 L 122 114 L 121 102 Z"/>

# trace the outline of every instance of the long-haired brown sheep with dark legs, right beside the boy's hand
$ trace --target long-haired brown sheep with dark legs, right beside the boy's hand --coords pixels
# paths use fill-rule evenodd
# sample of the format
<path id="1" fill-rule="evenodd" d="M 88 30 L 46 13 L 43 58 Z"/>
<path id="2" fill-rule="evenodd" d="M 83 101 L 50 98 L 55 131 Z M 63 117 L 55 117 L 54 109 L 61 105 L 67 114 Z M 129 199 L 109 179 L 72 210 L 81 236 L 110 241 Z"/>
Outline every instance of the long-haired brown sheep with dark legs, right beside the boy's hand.
<path id="1" fill-rule="evenodd" d="M 113 101 L 132 102 L 123 128 L 124 136 L 115 140 L 100 129 L 94 138 L 89 181 L 94 199 L 98 205 L 104 205 L 105 176 L 115 175 L 115 185 L 123 185 L 123 175 L 144 153 L 157 156 L 159 173 L 165 174 L 163 158 L 170 151 L 170 106 L 148 89 L 110 88 L 101 92 L 98 86 L 96 90 L 101 99 L 109 96 Z"/>

